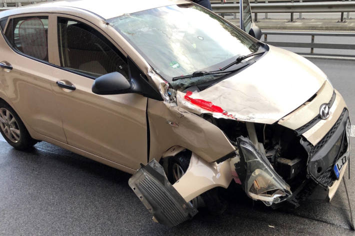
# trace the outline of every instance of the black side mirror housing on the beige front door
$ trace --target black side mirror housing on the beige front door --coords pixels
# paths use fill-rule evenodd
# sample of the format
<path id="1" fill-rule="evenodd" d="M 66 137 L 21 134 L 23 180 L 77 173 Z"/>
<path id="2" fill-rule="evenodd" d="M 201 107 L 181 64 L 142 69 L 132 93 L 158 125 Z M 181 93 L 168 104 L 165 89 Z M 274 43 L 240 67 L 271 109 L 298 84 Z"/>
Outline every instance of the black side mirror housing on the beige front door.
<path id="1" fill-rule="evenodd" d="M 102 75 L 95 79 L 92 92 L 99 95 L 130 93 L 132 84 L 118 72 Z"/>

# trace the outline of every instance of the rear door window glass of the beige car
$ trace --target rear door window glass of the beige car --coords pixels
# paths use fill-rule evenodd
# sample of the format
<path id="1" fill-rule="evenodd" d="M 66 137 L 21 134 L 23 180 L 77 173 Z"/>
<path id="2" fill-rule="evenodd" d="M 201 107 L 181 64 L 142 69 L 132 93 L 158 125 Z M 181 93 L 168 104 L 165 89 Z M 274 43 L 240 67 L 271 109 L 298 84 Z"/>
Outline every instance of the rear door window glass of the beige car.
<path id="1" fill-rule="evenodd" d="M 48 61 L 48 17 L 28 16 L 10 20 L 5 36 L 16 50 Z"/>

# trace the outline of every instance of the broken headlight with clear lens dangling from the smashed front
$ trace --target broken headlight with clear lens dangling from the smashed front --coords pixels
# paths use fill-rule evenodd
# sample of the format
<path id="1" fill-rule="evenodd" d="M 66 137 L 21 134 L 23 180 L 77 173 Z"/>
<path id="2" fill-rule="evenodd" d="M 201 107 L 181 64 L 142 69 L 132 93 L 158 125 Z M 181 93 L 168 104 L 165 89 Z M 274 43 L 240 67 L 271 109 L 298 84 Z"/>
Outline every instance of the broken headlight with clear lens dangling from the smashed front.
<path id="1" fill-rule="evenodd" d="M 239 137 L 237 145 L 240 162 L 235 163 L 234 167 L 249 198 L 271 206 L 291 197 L 292 193 L 288 184 L 276 173 L 267 158 L 255 148 L 249 139 Z"/>

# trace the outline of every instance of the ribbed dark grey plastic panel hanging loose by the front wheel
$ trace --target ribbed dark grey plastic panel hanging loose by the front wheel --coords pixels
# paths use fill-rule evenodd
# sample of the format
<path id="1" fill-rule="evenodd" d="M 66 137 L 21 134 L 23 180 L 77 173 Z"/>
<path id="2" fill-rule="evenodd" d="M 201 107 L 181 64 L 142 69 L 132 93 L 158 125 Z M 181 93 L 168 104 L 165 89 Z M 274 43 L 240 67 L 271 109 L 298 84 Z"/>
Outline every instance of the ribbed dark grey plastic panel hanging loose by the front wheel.
<path id="1" fill-rule="evenodd" d="M 146 166 L 141 164 L 141 168 L 128 180 L 128 185 L 162 225 L 177 226 L 198 212 L 172 187 L 163 167 L 155 160 Z"/>

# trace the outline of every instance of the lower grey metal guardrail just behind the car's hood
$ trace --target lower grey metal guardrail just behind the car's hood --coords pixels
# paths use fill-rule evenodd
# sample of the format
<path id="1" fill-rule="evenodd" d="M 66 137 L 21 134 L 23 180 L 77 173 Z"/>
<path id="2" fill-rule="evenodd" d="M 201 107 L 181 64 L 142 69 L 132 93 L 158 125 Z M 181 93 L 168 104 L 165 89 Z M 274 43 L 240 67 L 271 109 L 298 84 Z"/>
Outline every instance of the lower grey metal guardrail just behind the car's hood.
<path id="1" fill-rule="evenodd" d="M 322 57 L 342 57 L 343 59 L 355 60 L 355 55 L 340 55 L 340 54 L 319 54 L 314 53 L 314 48 L 325 49 L 348 49 L 355 50 L 355 44 L 340 44 L 340 43 L 317 43 L 314 42 L 315 36 L 332 36 L 332 37 L 355 37 L 355 32 L 307 32 L 307 31 L 278 31 L 278 30 L 263 30 L 264 42 L 278 47 L 296 47 L 310 48 L 309 53 L 300 53 L 305 56 L 322 56 Z M 267 35 L 293 35 L 293 36 L 310 36 L 310 42 L 276 42 L 268 41 Z M 335 40 L 334 40 L 335 41 Z M 355 41 L 354 41 L 355 42 Z"/>

